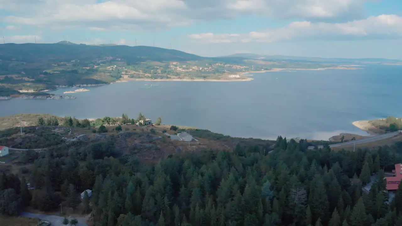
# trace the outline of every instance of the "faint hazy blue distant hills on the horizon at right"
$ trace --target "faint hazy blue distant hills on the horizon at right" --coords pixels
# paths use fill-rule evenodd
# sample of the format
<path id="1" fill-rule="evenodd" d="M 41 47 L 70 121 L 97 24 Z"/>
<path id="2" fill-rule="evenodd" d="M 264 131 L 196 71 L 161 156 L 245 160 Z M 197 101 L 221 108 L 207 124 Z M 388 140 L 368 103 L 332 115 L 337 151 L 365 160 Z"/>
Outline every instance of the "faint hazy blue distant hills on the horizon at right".
<path id="1" fill-rule="evenodd" d="M 297 57 L 297 56 L 286 56 L 286 55 L 260 55 L 253 53 L 236 53 L 232 55 L 222 56 L 224 58 L 228 57 L 240 57 L 255 60 L 287 60 L 287 61 L 297 61 L 297 62 L 328 62 L 328 63 L 396 63 L 402 62 L 402 60 L 392 60 L 384 58 L 319 58 L 319 57 Z"/>

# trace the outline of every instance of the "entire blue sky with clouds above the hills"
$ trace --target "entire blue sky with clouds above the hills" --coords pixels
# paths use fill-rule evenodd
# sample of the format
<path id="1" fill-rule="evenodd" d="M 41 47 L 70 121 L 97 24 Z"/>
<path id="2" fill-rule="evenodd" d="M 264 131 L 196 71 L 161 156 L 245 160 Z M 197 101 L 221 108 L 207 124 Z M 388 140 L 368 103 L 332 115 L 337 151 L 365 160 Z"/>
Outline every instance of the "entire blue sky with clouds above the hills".
<path id="1" fill-rule="evenodd" d="M 402 60 L 401 0 L 0 0 L 5 43 Z"/>

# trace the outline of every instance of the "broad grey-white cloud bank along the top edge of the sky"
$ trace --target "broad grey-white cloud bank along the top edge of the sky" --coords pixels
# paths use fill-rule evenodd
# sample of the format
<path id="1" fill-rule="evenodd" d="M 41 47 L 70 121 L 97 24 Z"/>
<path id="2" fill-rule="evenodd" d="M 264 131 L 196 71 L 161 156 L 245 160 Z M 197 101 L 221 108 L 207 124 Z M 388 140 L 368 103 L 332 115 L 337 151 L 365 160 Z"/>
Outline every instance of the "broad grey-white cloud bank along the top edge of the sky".
<path id="1" fill-rule="evenodd" d="M 37 26 L 166 29 L 199 20 L 267 16 L 339 18 L 358 15 L 367 0 L 0 0 L 3 21 Z"/>

